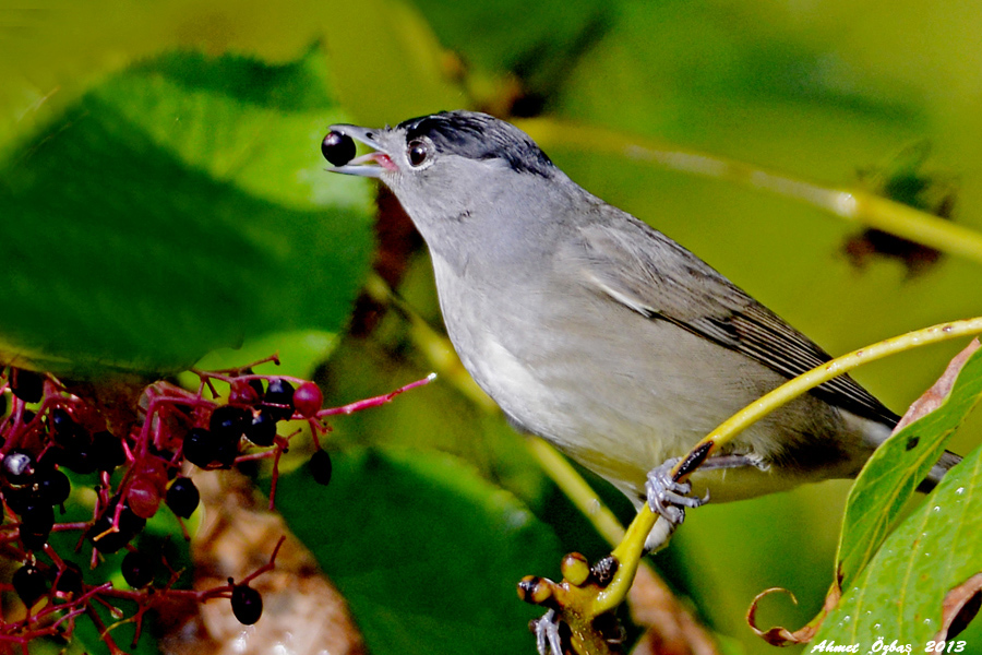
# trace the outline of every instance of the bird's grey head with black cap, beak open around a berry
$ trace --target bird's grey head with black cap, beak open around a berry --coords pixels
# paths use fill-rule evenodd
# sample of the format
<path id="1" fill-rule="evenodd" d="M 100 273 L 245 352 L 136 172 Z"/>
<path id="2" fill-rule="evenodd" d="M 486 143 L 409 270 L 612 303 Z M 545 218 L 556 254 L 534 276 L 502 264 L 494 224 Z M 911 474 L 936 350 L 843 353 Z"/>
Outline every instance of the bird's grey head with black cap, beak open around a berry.
<path id="1" fill-rule="evenodd" d="M 355 157 L 352 139 L 374 152 Z M 431 237 L 448 225 L 479 221 L 481 207 L 500 207 L 505 195 L 541 195 L 541 188 L 568 179 L 525 132 L 474 111 L 433 114 L 395 128 L 332 126 L 322 147 L 335 165 L 328 170 L 379 178 L 392 189 L 431 248 Z"/>

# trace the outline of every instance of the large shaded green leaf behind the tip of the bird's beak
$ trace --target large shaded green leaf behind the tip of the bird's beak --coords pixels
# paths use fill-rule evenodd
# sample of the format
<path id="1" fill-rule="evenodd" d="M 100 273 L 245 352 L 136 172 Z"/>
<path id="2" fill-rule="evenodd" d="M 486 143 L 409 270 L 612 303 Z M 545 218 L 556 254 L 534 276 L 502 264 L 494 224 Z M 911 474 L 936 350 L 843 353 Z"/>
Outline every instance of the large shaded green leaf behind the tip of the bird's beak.
<path id="1" fill-rule="evenodd" d="M 0 162 L 0 344 L 57 371 L 170 371 L 339 330 L 368 187 L 323 171 L 323 58 L 172 53 L 106 81 Z"/>

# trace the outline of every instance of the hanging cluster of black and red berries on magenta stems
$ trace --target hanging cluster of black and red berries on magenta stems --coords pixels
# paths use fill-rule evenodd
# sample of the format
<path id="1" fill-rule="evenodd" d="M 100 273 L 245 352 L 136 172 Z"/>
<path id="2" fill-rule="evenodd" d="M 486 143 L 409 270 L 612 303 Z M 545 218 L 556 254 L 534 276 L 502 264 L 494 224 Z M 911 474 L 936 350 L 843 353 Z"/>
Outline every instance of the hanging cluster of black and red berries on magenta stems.
<path id="1" fill-rule="evenodd" d="M 196 602 L 230 598 L 236 618 L 254 623 L 262 614 L 262 598 L 249 582 L 273 567 L 279 545 L 266 565 L 238 584 L 229 580 L 228 585 L 202 592 L 175 588 L 180 572 L 159 552 L 133 545 L 161 503 L 180 521 L 197 508 L 200 495 L 184 475 L 191 471 L 185 462 L 200 468 L 230 468 L 272 458 L 272 507 L 279 457 L 300 431 L 285 437 L 277 432 L 277 424 L 309 424 L 316 444 L 309 471 L 316 483 L 326 485 L 331 457 L 319 442 L 327 430 L 325 417 L 379 405 L 429 381 L 322 409 L 321 391 L 309 381 L 259 376 L 251 368 L 196 373 L 201 383 L 194 392 L 158 381 L 121 410 L 100 404 L 98 397 L 83 397 L 81 391 L 73 393 L 50 374 L 17 368 L 0 371 L 0 499 L 7 520 L 0 526 L 0 556 L 22 564 L 10 585 L 0 587 L 12 587 L 26 608 L 19 620 L 0 617 L 0 652 L 19 644 L 26 653 L 27 644 L 41 635 L 70 638 L 75 620 L 84 616 L 96 623 L 110 652 L 120 653 L 112 627 L 103 624 L 94 606 L 122 617 L 123 602 L 137 608 L 128 619 L 136 624 L 136 639 L 147 610 L 181 596 Z M 218 391 L 223 385 L 224 394 Z M 58 522 L 56 509 L 64 515 L 73 486 L 95 492 L 91 519 Z M 56 541 L 70 541 L 56 540 L 52 533 L 72 532 L 80 535 L 73 549 L 55 547 Z M 115 588 L 108 581 L 111 572 L 105 571 L 99 576 L 105 582 L 86 583 L 82 567 L 72 561 L 83 548 L 91 549 L 87 563 L 93 576 L 98 576 L 105 558 L 125 549 L 120 567 L 131 588 Z"/>

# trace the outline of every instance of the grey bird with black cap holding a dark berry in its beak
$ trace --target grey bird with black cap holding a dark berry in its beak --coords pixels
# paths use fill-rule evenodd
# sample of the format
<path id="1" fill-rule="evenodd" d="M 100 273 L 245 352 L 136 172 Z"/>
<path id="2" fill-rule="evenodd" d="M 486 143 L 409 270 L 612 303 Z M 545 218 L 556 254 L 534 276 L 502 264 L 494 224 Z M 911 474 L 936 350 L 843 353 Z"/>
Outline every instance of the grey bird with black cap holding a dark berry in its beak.
<path id="1" fill-rule="evenodd" d="M 355 142 L 371 152 L 355 156 Z M 709 264 L 591 194 L 525 132 L 457 110 L 331 126 L 327 170 L 381 180 L 430 252 L 447 335 L 516 429 L 674 526 L 685 509 L 852 478 L 899 417 L 848 376 L 671 465 L 831 357 Z M 958 462 L 945 453 L 922 488 Z"/>

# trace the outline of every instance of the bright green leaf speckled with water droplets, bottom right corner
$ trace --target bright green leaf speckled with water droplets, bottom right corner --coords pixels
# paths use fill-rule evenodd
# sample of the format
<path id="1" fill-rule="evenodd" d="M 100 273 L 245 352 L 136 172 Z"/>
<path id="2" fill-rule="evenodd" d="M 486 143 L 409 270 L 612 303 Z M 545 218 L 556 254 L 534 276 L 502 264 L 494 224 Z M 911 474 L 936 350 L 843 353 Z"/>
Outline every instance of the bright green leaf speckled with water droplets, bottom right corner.
<path id="1" fill-rule="evenodd" d="M 813 643 L 859 643 L 864 653 L 882 638 L 923 652 L 943 628 L 945 595 L 982 570 L 980 489 L 982 449 L 975 449 L 887 537 Z"/>

